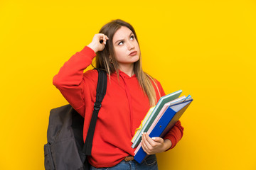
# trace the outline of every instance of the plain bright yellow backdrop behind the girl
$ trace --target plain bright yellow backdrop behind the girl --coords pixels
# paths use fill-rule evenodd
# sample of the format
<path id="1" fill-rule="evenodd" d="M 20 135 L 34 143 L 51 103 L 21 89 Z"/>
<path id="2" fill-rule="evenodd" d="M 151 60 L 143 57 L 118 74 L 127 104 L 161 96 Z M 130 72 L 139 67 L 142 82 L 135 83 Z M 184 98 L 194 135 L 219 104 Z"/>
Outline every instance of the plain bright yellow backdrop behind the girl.
<path id="1" fill-rule="evenodd" d="M 44 169 L 52 79 L 112 19 L 134 26 L 144 71 L 194 101 L 159 169 L 256 169 L 256 2 L 0 1 L 0 169 Z"/>

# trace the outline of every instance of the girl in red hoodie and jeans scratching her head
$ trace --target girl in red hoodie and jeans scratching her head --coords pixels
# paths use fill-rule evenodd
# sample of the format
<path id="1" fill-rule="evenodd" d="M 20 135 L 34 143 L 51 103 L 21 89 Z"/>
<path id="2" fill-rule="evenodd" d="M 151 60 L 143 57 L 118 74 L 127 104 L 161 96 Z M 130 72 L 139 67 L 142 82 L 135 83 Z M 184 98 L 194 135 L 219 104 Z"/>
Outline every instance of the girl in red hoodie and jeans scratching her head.
<path id="1" fill-rule="evenodd" d="M 156 153 L 173 148 L 181 140 L 178 121 L 164 138 L 142 135 L 142 148 L 150 156 L 142 164 L 133 160 L 132 137 L 151 106 L 164 90 L 142 70 L 142 56 L 134 28 L 127 22 L 107 23 L 92 42 L 65 62 L 53 84 L 85 118 L 84 141 L 96 98 L 97 70 L 84 70 L 96 57 L 96 67 L 107 72 L 107 92 L 93 137 L 91 169 L 158 169 Z"/>

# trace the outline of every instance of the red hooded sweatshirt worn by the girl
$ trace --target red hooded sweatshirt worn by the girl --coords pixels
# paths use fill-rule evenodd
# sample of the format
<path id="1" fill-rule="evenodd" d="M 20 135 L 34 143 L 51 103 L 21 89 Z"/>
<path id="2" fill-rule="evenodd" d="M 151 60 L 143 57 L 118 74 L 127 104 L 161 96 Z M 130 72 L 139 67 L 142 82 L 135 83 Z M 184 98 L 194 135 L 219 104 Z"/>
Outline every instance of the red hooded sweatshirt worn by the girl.
<path id="1" fill-rule="evenodd" d="M 53 77 L 53 84 L 61 94 L 85 118 L 84 141 L 90 125 L 92 109 L 96 99 L 97 70 L 84 70 L 96 56 L 90 47 L 84 47 L 80 52 L 65 62 L 58 74 Z M 156 81 L 161 96 L 164 90 Z M 157 101 L 159 96 L 156 87 Z M 119 71 L 107 79 L 107 92 L 102 101 L 102 107 L 97 118 L 95 134 L 92 143 L 92 156 L 88 160 L 95 167 L 110 167 L 118 164 L 128 155 L 134 155 L 132 137 L 135 129 L 149 111 L 149 98 L 139 86 L 136 75 L 129 77 Z M 183 127 L 178 121 L 164 139 L 172 142 L 173 148 L 183 135 Z M 171 149 L 170 148 L 170 149 Z"/>

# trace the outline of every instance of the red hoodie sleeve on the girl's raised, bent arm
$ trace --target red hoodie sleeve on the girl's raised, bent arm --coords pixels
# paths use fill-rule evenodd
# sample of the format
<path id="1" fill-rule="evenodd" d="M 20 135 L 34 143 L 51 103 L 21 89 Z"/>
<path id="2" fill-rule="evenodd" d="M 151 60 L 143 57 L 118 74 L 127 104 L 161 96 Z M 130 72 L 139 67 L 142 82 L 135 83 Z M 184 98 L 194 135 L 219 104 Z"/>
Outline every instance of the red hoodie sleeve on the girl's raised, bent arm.
<path id="1" fill-rule="evenodd" d="M 97 84 L 97 71 L 90 70 L 83 73 L 92 63 L 96 56 L 95 52 L 85 46 L 80 52 L 65 62 L 58 74 L 53 77 L 53 85 L 60 90 L 65 99 L 75 108 L 80 115 L 85 116 L 85 100 L 90 98 L 90 88 L 92 84 Z"/>

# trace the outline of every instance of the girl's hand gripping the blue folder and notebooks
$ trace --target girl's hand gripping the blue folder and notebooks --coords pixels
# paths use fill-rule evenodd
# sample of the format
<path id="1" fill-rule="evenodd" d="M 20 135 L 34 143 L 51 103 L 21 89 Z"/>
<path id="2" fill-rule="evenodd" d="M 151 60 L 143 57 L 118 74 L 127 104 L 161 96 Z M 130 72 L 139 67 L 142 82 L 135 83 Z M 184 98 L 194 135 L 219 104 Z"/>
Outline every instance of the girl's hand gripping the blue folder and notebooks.
<path id="1" fill-rule="evenodd" d="M 146 154 L 156 154 L 165 152 L 171 147 L 171 140 L 164 140 L 161 137 L 149 137 L 147 133 L 142 133 L 142 149 Z"/>

